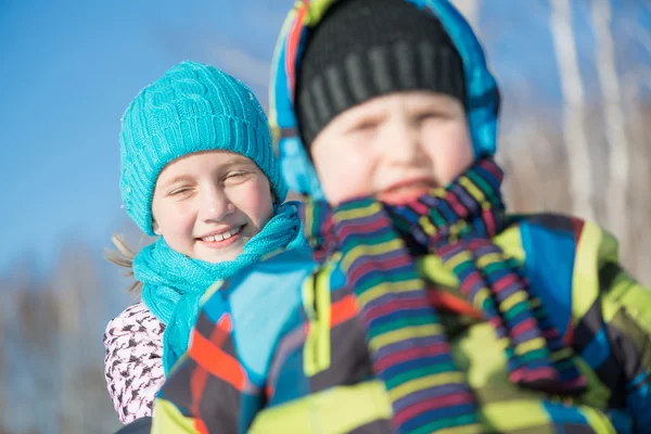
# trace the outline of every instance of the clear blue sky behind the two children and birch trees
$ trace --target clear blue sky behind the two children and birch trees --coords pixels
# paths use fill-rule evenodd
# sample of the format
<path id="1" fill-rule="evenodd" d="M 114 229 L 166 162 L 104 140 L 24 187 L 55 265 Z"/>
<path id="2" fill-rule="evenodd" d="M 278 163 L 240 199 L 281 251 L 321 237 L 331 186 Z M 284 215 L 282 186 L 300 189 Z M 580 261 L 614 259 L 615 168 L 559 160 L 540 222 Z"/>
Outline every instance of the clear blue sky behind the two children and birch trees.
<path id="1" fill-rule="evenodd" d="M 547 0 L 527 0 L 527 9 L 513 8 L 513 0 L 486 1 L 481 27 L 501 86 L 535 84 L 539 104 L 558 103 Z M 651 12 L 640 14 L 643 7 L 629 1 L 613 3 L 649 30 Z M 589 4 L 572 2 L 578 11 Z M 0 0 L 0 275 L 25 258 L 48 269 L 67 240 L 88 243 L 99 258 L 126 221 L 118 131 L 130 100 L 191 59 L 237 75 L 266 102 L 268 63 L 292 3 Z M 587 53 L 592 41 L 586 20 L 578 15 L 576 24 Z M 651 65 L 643 50 L 633 54 Z M 593 76 L 588 66 L 582 72 Z"/>

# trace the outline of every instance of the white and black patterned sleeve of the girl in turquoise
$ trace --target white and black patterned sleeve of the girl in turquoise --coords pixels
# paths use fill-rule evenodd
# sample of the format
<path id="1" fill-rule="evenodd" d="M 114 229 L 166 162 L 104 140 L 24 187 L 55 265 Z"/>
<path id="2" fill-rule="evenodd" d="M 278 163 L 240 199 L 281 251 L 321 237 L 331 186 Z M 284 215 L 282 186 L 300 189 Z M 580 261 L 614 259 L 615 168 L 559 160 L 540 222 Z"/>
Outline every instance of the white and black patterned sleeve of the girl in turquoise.
<path id="1" fill-rule="evenodd" d="M 164 330 L 142 303 L 129 306 L 106 326 L 104 374 L 124 424 L 152 416 L 154 397 L 165 382 Z"/>

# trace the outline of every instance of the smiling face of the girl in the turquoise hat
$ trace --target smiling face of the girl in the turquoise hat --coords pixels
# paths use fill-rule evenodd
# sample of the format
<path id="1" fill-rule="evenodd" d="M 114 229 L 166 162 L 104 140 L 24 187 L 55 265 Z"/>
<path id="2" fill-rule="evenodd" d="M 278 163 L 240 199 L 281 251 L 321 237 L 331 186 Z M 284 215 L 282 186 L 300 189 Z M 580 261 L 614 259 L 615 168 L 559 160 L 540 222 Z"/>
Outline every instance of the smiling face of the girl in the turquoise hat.
<path id="1" fill-rule="evenodd" d="M 167 165 L 152 201 L 154 232 L 175 251 L 208 263 L 232 260 L 273 214 L 271 187 L 240 154 L 209 151 Z"/>

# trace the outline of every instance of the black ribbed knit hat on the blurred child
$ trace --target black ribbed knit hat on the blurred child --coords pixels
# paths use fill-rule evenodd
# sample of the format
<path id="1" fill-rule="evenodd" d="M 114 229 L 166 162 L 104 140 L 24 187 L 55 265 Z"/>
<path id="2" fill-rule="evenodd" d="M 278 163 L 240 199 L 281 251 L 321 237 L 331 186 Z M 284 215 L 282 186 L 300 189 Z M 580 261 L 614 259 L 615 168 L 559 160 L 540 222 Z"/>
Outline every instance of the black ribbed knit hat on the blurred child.
<path id="1" fill-rule="evenodd" d="M 295 99 L 306 145 L 336 115 L 382 94 L 432 90 L 465 104 L 457 48 L 438 18 L 405 0 L 340 0 L 309 31 Z"/>

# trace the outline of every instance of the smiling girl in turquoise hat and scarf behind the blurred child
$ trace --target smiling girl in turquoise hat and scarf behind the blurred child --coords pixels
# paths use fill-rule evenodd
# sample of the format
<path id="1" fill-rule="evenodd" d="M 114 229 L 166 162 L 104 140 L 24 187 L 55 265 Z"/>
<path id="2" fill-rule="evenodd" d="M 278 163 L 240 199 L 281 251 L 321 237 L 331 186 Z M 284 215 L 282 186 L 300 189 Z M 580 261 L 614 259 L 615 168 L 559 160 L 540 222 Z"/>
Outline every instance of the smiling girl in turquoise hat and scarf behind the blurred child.
<path id="1" fill-rule="evenodd" d="M 304 243 L 295 206 L 282 205 L 288 189 L 271 146 L 254 94 L 195 62 L 174 66 L 127 108 L 122 197 L 158 239 L 132 261 L 116 260 L 132 265 L 142 291 L 104 334 L 108 392 L 123 423 L 151 414 L 210 285 Z"/>

